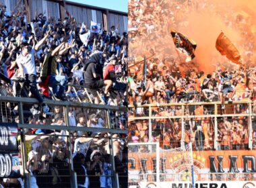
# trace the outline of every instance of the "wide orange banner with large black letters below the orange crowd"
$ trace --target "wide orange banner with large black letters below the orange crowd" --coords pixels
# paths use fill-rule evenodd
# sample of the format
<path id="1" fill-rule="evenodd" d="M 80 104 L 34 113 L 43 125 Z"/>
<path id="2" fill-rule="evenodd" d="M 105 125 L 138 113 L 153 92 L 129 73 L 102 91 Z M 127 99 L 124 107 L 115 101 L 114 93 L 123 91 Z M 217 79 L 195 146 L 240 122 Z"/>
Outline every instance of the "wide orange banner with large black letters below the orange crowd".
<path id="1" fill-rule="evenodd" d="M 256 152 L 253 150 L 193 151 L 195 175 L 198 173 L 256 173 Z M 129 175 L 131 179 L 138 175 L 156 172 L 156 153 L 129 152 Z M 160 150 L 160 172 L 182 174 L 190 171 L 191 152 L 174 153 Z M 196 175 L 197 176 L 197 175 Z M 201 177 L 200 177 L 201 179 Z M 199 179 L 197 179 L 199 180 Z"/>

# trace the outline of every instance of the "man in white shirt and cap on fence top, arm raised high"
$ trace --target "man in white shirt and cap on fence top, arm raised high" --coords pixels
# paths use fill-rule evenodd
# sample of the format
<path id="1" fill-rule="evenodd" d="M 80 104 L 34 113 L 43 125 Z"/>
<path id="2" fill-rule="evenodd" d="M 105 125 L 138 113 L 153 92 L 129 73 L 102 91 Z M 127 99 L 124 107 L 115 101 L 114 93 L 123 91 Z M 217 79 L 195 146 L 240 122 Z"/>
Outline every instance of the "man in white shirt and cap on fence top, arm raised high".
<path id="1" fill-rule="evenodd" d="M 51 30 L 49 30 L 44 38 L 40 40 L 37 44 L 33 40 L 32 49 L 27 42 L 23 42 L 21 44 L 22 53 L 18 58 L 16 58 L 16 62 L 20 69 L 20 75 L 25 79 L 25 83 L 30 89 L 30 92 L 34 97 L 38 100 L 40 105 L 42 105 L 42 111 L 44 113 L 49 111 L 49 107 L 44 103 L 44 99 L 42 99 L 42 95 L 40 95 L 37 86 L 36 86 L 36 63 L 34 60 L 34 56 L 37 50 L 39 50 L 40 46 L 44 44 L 46 38 L 48 38 Z"/>

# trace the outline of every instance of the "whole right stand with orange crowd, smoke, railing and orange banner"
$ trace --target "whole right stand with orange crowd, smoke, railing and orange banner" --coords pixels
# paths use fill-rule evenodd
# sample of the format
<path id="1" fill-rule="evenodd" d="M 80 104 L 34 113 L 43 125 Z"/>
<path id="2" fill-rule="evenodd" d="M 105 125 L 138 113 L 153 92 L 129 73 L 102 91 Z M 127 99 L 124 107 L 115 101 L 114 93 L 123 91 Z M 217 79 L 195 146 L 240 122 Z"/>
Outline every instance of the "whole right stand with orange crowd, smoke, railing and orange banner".
<path id="1" fill-rule="evenodd" d="M 216 2 L 129 1 L 130 187 L 192 187 L 184 184 L 192 174 L 195 182 L 255 181 L 254 162 L 250 170 L 243 163 L 255 158 L 253 13 L 241 1 Z M 237 34 L 244 64 L 218 54 L 220 28 Z M 193 60 L 173 44 L 172 29 L 198 42 Z"/>

